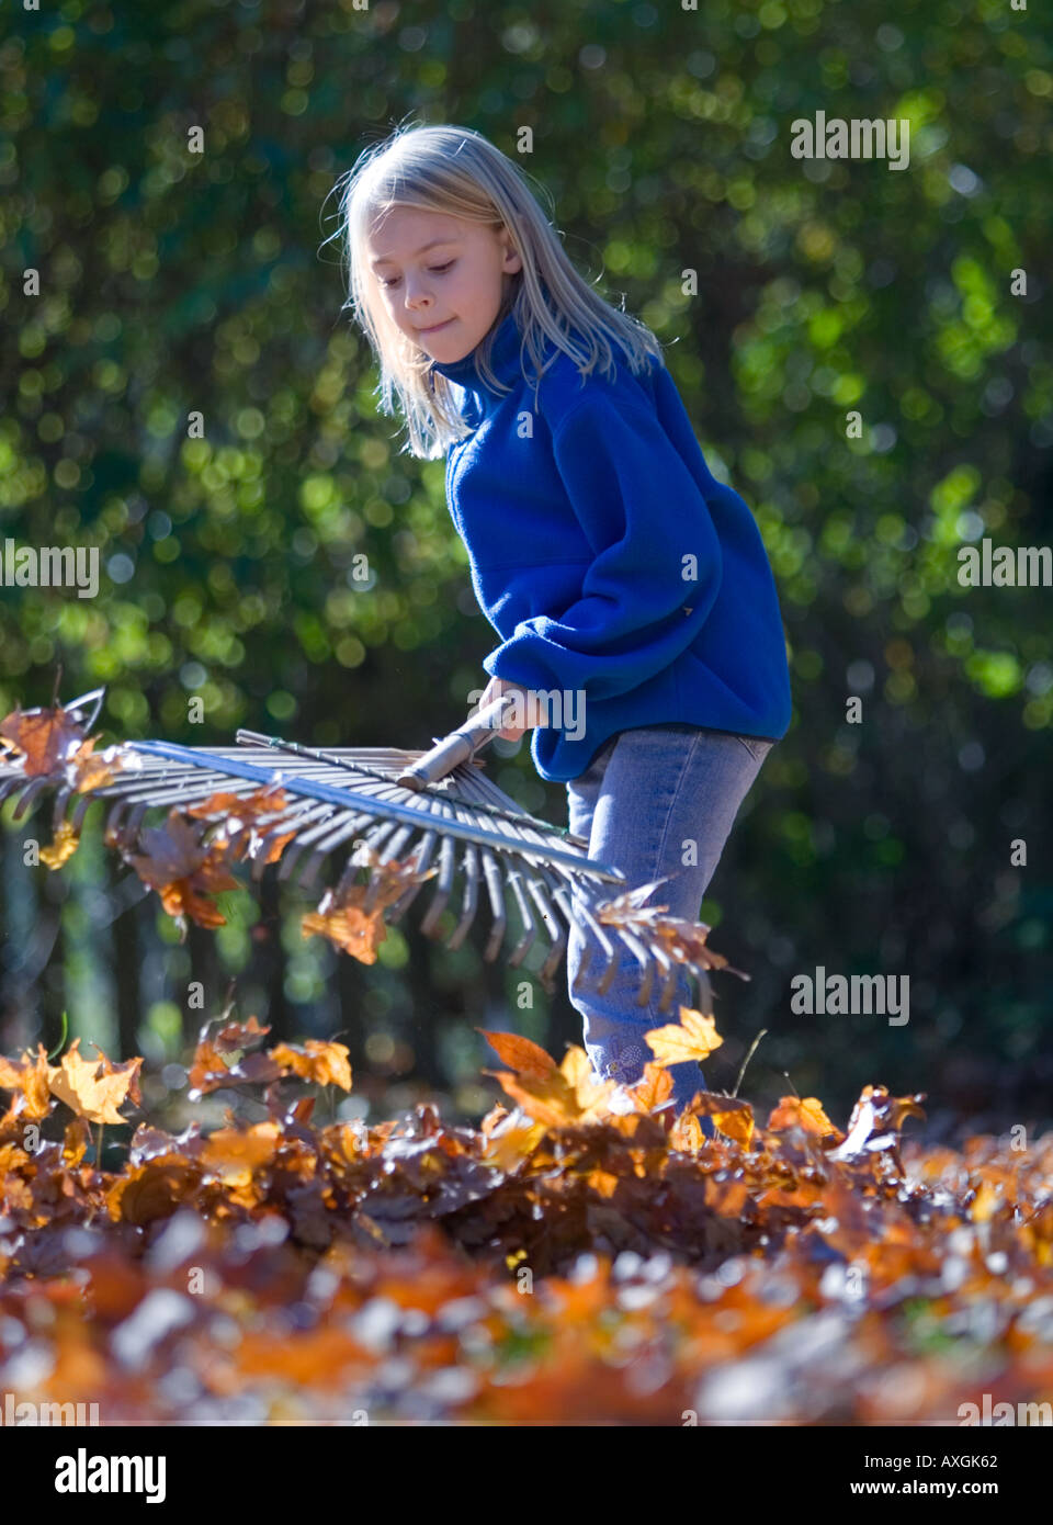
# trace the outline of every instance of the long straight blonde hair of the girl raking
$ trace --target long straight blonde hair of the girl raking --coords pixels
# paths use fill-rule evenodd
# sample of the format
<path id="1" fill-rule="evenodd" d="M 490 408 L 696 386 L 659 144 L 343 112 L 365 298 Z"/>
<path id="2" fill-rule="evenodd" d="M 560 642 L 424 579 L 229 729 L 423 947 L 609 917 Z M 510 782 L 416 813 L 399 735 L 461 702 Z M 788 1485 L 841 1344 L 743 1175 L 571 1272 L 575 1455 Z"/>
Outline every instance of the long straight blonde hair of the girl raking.
<path id="1" fill-rule="evenodd" d="M 480 133 L 450 125 L 396 128 L 367 148 L 334 189 L 341 185 L 340 221 L 332 235 L 344 236 L 347 300 L 341 311 L 352 308 L 379 364 L 379 410 L 393 413 L 398 393 L 408 429 L 399 453 L 434 461 L 471 430 L 457 409 L 453 383 L 431 371 L 431 357 L 392 322 L 372 279 L 366 238 L 376 214 L 389 207 L 413 206 L 509 230 L 523 270 L 512 276 L 514 285 L 475 354 L 480 375 L 497 392 L 507 389 L 491 369 L 492 339 L 507 313 L 515 313 L 535 386 L 556 358 L 552 355 L 543 366 L 544 337 L 570 355 L 582 377 L 597 364 L 613 374 L 613 343 L 622 346 L 634 374 L 649 364 L 651 355 L 663 360 L 651 329 L 611 307 L 578 274 L 526 175 Z M 575 346 L 570 329 L 584 340 L 584 351 Z"/>

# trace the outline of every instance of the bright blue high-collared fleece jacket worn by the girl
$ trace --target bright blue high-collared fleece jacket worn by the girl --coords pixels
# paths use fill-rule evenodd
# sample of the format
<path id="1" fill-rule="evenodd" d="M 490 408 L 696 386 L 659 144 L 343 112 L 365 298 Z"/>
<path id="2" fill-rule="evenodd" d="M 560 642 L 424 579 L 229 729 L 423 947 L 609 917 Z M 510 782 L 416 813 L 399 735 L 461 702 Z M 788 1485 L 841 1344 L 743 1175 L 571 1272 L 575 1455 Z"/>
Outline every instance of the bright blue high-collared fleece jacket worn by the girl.
<path id="1" fill-rule="evenodd" d="M 472 433 L 446 453 L 446 502 L 501 645 L 485 669 L 547 694 L 541 778 L 585 772 L 616 730 L 687 721 L 782 738 L 791 718 L 779 598 L 756 520 L 709 471 L 664 363 L 536 387 L 515 313 L 494 331 L 498 395 L 478 349 L 439 363 Z M 526 371 L 524 372 L 524 360 Z"/>

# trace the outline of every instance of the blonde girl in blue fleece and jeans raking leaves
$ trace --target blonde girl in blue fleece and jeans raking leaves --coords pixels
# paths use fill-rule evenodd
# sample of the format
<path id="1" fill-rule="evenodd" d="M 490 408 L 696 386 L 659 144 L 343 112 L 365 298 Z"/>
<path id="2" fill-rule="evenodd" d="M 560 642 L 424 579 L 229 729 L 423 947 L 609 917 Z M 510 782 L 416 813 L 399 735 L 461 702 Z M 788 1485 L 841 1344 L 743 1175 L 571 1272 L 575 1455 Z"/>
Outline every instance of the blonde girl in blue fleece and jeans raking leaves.
<path id="1" fill-rule="evenodd" d="M 736 811 L 791 718 L 771 567 L 738 493 L 709 471 L 661 345 L 573 268 L 518 168 L 460 127 L 396 130 L 341 201 L 349 300 L 410 453 L 446 456 L 472 587 L 501 637 L 482 703 L 517 694 L 570 830 L 631 886 L 698 918 Z M 521 721 L 521 724 L 518 723 Z M 617 939 L 620 942 L 620 939 Z M 567 974 L 596 1072 L 631 1084 L 643 1034 L 690 1003 L 637 1005 L 625 949 L 608 990 Z M 593 950 L 590 981 L 603 962 Z M 672 1066 L 677 1107 L 704 1086 Z"/>

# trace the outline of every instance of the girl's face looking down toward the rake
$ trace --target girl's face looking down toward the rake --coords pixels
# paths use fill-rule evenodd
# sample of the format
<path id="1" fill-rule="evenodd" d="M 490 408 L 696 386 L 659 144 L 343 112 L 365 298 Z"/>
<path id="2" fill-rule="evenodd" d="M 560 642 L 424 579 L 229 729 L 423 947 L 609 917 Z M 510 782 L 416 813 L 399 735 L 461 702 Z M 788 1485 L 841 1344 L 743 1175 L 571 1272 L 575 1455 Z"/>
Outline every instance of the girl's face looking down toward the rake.
<path id="1" fill-rule="evenodd" d="M 506 227 L 411 206 L 375 218 L 366 250 L 392 322 L 442 363 L 463 360 L 485 339 L 523 268 Z"/>

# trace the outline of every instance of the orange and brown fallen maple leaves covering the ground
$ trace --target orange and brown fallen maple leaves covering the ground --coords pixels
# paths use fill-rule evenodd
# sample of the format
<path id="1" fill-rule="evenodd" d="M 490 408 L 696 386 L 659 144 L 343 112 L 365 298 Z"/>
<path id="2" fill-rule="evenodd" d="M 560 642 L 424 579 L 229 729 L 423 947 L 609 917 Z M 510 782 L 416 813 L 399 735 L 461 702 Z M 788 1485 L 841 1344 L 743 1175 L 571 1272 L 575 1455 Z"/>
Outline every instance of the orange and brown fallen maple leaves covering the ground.
<path id="1" fill-rule="evenodd" d="M 2 1061 L 0 1391 L 102 1423 L 957 1424 L 983 1394 L 1048 1401 L 1053 1136 L 922 1147 L 901 1132 L 922 1098 L 881 1086 L 844 1130 L 815 1098 L 762 1125 L 699 1092 L 671 1118 L 667 1064 L 721 1042 L 681 1017 L 634 1087 L 488 1032 L 507 1106 L 471 1128 L 431 1104 L 315 1125 L 346 1048 L 267 1049 L 224 1014 L 187 1095 L 226 1100 L 219 1125 L 139 1121 L 113 1171 L 99 1130 L 136 1122 L 140 1060 Z"/>

